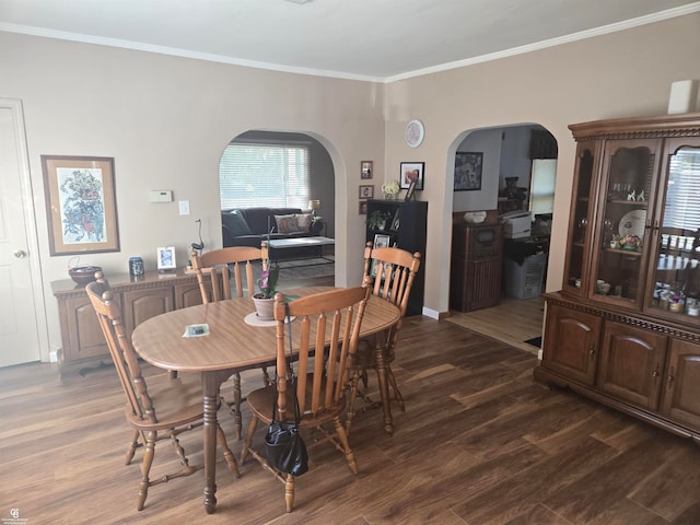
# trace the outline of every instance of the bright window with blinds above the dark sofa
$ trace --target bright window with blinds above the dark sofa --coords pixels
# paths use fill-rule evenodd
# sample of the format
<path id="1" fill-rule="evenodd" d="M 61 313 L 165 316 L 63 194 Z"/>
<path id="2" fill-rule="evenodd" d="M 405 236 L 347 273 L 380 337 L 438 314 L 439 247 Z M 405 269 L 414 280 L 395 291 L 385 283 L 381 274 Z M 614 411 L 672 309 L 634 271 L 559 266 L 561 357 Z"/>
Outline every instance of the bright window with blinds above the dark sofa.
<path id="1" fill-rule="evenodd" d="M 308 202 L 308 147 L 230 143 L 219 164 L 221 209 L 301 208 Z"/>

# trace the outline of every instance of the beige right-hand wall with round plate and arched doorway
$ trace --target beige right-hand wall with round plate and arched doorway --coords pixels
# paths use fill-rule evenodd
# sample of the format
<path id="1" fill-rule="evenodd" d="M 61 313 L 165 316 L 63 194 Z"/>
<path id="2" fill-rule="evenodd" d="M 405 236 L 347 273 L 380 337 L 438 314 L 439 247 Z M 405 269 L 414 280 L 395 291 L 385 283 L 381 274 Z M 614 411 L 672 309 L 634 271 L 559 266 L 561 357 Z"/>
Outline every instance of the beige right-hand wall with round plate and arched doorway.
<path id="1" fill-rule="evenodd" d="M 608 117 L 666 113 L 670 83 L 700 79 L 700 14 L 520 55 L 386 86 L 387 170 L 425 162 L 425 307 L 447 311 L 454 152 L 465 132 L 540 124 L 559 143 L 555 229 L 547 290 L 561 288 L 575 143 L 567 126 Z M 402 139 L 419 118 L 418 150 Z M 488 205 L 488 202 L 487 202 Z"/>

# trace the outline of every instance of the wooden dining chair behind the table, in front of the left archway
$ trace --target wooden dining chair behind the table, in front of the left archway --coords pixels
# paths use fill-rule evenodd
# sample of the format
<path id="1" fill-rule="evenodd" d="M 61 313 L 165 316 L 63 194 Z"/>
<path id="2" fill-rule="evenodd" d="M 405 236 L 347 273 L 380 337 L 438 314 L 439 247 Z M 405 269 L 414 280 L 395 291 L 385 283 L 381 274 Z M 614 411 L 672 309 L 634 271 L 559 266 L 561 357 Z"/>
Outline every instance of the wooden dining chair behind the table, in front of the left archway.
<path id="1" fill-rule="evenodd" d="M 261 248 L 253 248 L 249 246 L 233 246 L 229 248 L 212 249 L 199 255 L 197 250 L 192 250 L 190 262 L 192 269 L 197 272 L 197 281 L 199 282 L 199 291 L 203 304 L 212 301 L 221 301 L 231 299 L 233 293 L 236 298 L 243 298 L 245 292 L 248 296 L 255 294 L 255 279 L 253 275 L 253 262 L 260 261 L 261 269 L 268 267 L 268 247 L 267 242 L 262 242 Z M 245 276 L 245 287 L 243 283 Z M 233 283 L 233 287 L 232 287 Z M 233 415 L 236 423 L 236 438 L 240 440 L 243 431 L 243 418 L 241 415 L 241 404 L 245 398 L 241 394 L 241 372 L 250 369 L 261 369 L 262 381 L 265 385 L 270 384 L 270 377 L 267 373 L 267 366 L 275 363 L 268 363 L 262 366 L 247 366 L 237 369 L 233 375 L 233 402 L 226 402 L 230 412 Z"/>

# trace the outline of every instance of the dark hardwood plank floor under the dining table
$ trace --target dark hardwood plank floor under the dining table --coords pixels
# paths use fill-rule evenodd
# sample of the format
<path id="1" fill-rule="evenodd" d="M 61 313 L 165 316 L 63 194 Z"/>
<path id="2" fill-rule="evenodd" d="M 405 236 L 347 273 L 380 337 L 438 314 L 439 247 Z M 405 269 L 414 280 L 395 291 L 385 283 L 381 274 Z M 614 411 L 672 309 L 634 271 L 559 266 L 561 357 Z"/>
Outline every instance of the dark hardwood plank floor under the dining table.
<path id="1" fill-rule="evenodd" d="M 360 475 L 329 446 L 312 448 L 287 514 L 269 472 L 248 460 L 234 479 L 220 458 L 213 515 L 201 471 L 152 488 L 136 511 L 139 464 L 124 465 L 130 431 L 113 370 L 61 381 L 54 364 L 1 369 L 0 517 L 18 509 L 28 525 L 700 523 L 697 445 L 534 384 L 535 364 L 453 323 L 407 318 L 394 365 L 407 410 L 394 410 L 392 438 L 381 410 L 357 416 Z M 246 392 L 259 374 L 244 380 Z M 220 418 L 237 454 L 233 418 Z M 201 433 L 188 434 L 183 445 L 198 463 Z M 154 471 L 175 460 L 161 443 Z"/>

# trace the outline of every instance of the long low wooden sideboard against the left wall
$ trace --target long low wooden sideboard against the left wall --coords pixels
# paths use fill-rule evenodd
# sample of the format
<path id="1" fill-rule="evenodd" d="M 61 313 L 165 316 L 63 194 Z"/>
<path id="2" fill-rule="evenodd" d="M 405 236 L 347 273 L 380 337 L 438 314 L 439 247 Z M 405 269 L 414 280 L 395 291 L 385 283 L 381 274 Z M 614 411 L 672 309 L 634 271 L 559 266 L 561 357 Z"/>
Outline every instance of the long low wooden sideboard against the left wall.
<path id="1" fill-rule="evenodd" d="M 147 271 L 144 276 L 106 276 L 121 305 L 127 334 L 144 320 L 172 310 L 201 304 L 197 276 L 177 269 L 170 273 Z M 58 301 L 62 351 L 60 373 L 112 362 L 104 335 L 84 287 L 65 279 L 51 282 Z M 185 327 L 183 327 L 183 330 Z"/>

